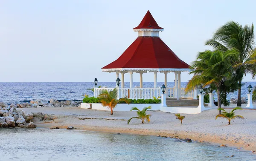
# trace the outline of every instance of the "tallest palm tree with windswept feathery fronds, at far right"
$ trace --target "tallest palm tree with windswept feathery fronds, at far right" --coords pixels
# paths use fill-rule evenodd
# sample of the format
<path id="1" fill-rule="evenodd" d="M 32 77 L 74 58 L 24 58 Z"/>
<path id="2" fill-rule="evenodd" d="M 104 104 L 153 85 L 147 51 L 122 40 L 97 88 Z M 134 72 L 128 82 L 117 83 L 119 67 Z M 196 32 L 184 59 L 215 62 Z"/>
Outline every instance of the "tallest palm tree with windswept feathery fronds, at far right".
<path id="1" fill-rule="evenodd" d="M 217 29 L 212 39 L 206 42 L 206 45 L 212 46 L 214 49 L 237 50 L 236 58 L 233 60 L 239 82 L 237 106 L 241 106 L 241 81 L 248 70 L 246 66 L 256 64 L 255 60 L 248 60 L 255 47 L 253 28 L 253 24 L 243 27 L 239 23 L 229 21 Z"/>

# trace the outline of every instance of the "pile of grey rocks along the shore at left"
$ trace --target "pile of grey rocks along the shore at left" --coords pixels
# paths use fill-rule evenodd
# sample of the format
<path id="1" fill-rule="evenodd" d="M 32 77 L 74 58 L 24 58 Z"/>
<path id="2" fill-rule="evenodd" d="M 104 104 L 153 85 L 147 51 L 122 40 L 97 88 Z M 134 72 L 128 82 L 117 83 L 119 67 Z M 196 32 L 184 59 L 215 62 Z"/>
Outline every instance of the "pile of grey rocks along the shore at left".
<path id="1" fill-rule="evenodd" d="M 6 104 L 0 102 L 0 127 L 26 127 L 36 128 L 32 122 L 54 120 L 56 117 L 52 115 L 44 115 L 43 113 L 31 113 L 20 110 L 20 108 L 41 108 L 41 107 L 79 107 L 81 101 L 58 101 L 50 99 L 50 101 L 32 100 L 30 103 Z M 26 125 L 27 123 L 27 125 Z"/>

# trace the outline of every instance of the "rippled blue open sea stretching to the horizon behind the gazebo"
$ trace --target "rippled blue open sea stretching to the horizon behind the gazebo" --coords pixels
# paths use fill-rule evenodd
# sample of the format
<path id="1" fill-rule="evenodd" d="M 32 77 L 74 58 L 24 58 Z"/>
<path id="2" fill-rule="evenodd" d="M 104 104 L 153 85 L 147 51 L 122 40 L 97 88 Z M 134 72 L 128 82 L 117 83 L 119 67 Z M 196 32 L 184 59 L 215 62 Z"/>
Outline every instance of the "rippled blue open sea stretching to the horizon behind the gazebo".
<path id="1" fill-rule="evenodd" d="M 243 82 L 242 97 L 247 97 L 247 86 L 251 83 L 256 86 L 256 82 Z M 162 86 L 163 82 L 158 82 L 157 86 Z M 187 82 L 181 82 L 181 87 L 185 87 Z M 114 87 L 115 82 L 99 82 L 99 86 Z M 64 83 L 0 83 L 0 102 L 21 103 L 35 99 L 49 100 L 82 100 L 85 93 L 93 95 L 87 90 L 94 86 L 93 82 L 64 82 Z M 140 86 L 139 82 L 134 82 L 134 86 Z M 174 82 L 168 82 L 168 86 L 174 86 Z M 129 87 L 129 82 L 125 82 L 125 87 Z M 154 82 L 143 82 L 143 87 L 154 87 Z M 215 96 L 217 98 L 217 96 Z M 228 95 L 228 98 L 237 98 L 237 92 Z"/>

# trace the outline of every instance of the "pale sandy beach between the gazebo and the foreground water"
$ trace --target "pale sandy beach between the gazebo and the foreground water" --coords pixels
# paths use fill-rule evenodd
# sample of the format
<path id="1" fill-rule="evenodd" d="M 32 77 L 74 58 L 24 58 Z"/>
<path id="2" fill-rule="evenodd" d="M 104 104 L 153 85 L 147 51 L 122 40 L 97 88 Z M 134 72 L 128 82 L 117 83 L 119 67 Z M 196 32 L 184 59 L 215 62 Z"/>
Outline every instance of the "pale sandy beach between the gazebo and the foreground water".
<path id="1" fill-rule="evenodd" d="M 38 127 L 74 126 L 78 129 L 103 132 L 131 133 L 141 135 L 164 135 L 168 137 L 191 138 L 228 146 L 242 147 L 245 150 L 256 151 L 256 110 L 236 110 L 236 115 L 244 116 L 244 120 L 233 120 L 228 125 L 226 119 L 218 118 L 216 109 L 210 109 L 200 114 L 183 114 L 186 118 L 183 124 L 175 119 L 173 113 L 148 111 L 151 114 L 150 123 L 141 124 L 140 120 L 133 119 L 130 124 L 127 120 L 136 116 L 136 112 L 115 112 L 81 109 L 78 107 L 45 107 L 23 108 L 28 112 L 42 112 L 55 115 L 54 121 L 36 122 Z M 227 109 L 227 111 L 230 109 Z M 81 120 L 79 118 L 83 118 Z"/>

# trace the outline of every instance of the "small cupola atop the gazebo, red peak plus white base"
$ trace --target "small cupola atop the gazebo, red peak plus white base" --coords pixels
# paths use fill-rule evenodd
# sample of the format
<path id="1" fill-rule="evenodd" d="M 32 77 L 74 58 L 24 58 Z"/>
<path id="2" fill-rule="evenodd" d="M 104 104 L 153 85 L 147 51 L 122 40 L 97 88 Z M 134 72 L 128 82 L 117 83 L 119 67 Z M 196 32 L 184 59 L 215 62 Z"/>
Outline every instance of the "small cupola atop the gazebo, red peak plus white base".
<path id="1" fill-rule="evenodd" d="M 159 37 L 159 32 L 162 32 L 163 28 L 158 26 L 152 14 L 148 11 L 139 26 L 134 28 L 134 31 L 138 32 L 138 36 Z"/>

